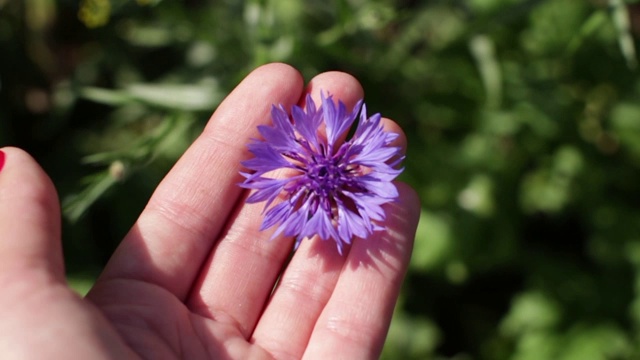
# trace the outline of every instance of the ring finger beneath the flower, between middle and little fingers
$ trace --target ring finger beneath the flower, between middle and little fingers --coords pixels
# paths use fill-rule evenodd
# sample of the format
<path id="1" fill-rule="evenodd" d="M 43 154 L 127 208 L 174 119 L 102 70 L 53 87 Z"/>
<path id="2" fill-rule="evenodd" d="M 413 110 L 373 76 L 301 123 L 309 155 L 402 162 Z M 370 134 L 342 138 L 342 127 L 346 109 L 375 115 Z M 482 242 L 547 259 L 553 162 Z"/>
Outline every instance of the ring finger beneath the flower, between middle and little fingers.
<path id="1" fill-rule="evenodd" d="M 398 134 L 392 146 L 406 148 L 406 137 L 395 122 L 384 119 L 383 127 Z M 303 241 L 279 280 L 252 341 L 276 358 L 301 358 L 346 259 L 332 241 Z"/>

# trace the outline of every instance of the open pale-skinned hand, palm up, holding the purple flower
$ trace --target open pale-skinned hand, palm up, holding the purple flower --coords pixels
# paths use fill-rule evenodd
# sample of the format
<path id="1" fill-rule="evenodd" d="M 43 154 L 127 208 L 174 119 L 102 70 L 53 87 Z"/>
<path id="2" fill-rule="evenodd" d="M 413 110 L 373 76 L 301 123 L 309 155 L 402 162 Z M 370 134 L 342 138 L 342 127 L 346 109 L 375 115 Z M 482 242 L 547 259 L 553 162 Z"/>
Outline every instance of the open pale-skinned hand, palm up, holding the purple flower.
<path id="1" fill-rule="evenodd" d="M 0 354 L 27 359 L 368 359 L 380 355 L 411 255 L 419 203 L 407 185 L 386 205 L 386 231 L 355 239 L 268 241 L 263 204 L 237 186 L 246 144 L 320 90 L 363 97 L 339 72 L 305 87 L 284 64 L 254 70 L 158 186 L 85 298 L 64 276 L 54 186 L 24 151 L 0 171 Z M 316 100 L 317 101 L 317 100 Z M 389 131 L 401 134 L 385 119 Z M 276 285 L 277 281 L 277 286 Z M 275 290 L 274 290 L 275 286 Z"/>

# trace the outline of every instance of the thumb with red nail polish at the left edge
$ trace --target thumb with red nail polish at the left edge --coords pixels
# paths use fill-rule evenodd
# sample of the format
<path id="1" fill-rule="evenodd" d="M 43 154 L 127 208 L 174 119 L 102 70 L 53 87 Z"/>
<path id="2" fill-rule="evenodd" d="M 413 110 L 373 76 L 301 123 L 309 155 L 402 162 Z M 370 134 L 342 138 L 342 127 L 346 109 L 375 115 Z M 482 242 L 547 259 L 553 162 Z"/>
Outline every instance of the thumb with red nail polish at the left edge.
<path id="1" fill-rule="evenodd" d="M 64 282 L 60 208 L 51 180 L 17 148 L 0 150 L 0 164 L 0 288 L 32 275 Z"/>

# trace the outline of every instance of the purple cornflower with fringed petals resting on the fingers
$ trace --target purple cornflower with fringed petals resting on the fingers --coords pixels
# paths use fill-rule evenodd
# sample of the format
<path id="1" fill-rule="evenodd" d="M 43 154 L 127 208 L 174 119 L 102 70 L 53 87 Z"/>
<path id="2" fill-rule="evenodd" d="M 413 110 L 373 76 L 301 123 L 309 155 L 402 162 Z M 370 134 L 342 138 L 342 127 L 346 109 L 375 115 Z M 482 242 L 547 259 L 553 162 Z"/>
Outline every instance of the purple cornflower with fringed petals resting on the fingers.
<path id="1" fill-rule="evenodd" d="M 272 106 L 273 126 L 258 126 L 264 140 L 248 145 L 255 157 L 242 162 L 251 171 L 241 172 L 240 186 L 256 190 L 247 203 L 266 201 L 260 230 L 278 225 L 272 238 L 295 236 L 295 248 L 315 235 L 333 239 L 342 254 L 354 236 L 383 229 L 382 205 L 398 197 L 392 180 L 404 156 L 391 146 L 398 134 L 383 129 L 380 114 L 367 117 L 362 100 L 352 112 L 332 96 L 323 94 L 321 101 L 316 108 L 307 96 L 305 108 L 293 106 L 291 117 L 282 105 Z M 358 114 L 355 133 L 345 141 Z M 269 177 L 280 169 L 287 169 L 286 177 Z"/>

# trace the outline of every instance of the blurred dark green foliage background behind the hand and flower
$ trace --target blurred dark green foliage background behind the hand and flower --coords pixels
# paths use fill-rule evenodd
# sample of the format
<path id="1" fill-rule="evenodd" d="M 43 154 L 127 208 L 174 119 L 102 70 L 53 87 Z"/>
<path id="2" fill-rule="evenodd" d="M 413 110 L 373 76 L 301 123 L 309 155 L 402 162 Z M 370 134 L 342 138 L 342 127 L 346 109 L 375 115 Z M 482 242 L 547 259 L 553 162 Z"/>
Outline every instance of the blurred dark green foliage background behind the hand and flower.
<path id="1" fill-rule="evenodd" d="M 625 0 L 0 0 L 0 145 L 84 292 L 249 71 L 349 72 L 422 198 L 384 359 L 639 359 L 639 35 Z"/>

